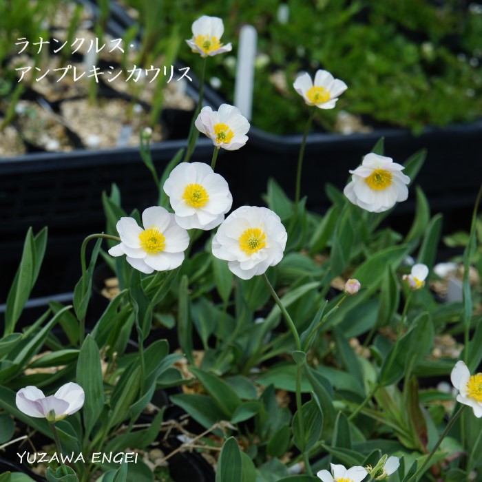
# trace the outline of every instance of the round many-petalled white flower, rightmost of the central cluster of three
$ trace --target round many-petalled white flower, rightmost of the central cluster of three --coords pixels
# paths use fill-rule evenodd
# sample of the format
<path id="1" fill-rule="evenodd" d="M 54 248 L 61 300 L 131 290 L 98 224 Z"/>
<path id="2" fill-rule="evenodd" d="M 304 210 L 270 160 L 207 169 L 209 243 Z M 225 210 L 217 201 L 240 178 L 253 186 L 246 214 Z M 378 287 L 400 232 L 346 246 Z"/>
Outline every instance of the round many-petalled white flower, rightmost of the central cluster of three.
<path id="1" fill-rule="evenodd" d="M 286 229 L 265 207 L 242 206 L 220 225 L 213 238 L 213 255 L 228 262 L 242 280 L 262 275 L 283 258 Z"/>

